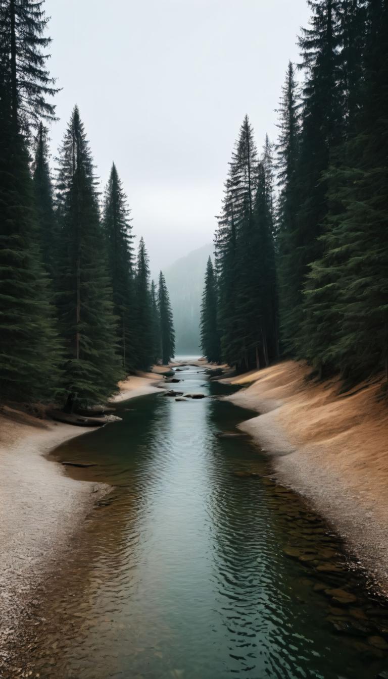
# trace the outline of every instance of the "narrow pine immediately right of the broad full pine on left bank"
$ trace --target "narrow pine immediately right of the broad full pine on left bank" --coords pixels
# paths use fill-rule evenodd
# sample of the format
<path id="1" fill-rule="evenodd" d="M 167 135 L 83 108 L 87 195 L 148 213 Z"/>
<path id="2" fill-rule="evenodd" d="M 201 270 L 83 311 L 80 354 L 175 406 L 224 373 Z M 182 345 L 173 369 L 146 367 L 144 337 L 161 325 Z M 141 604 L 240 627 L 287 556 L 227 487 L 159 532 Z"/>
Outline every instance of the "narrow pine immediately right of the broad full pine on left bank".
<path id="1" fill-rule="evenodd" d="M 113 163 L 105 189 L 103 230 L 114 312 L 118 317 L 118 347 L 122 365 L 127 372 L 135 366 L 135 299 L 133 280 L 133 235 L 126 194 Z"/>

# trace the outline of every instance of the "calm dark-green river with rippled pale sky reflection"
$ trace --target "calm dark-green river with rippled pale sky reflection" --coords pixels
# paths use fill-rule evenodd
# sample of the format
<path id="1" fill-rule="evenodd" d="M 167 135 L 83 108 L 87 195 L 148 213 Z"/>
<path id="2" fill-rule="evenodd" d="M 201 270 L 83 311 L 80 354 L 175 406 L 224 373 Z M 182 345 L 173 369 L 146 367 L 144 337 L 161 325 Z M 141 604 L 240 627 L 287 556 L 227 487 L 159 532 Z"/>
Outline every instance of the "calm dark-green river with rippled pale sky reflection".
<path id="1" fill-rule="evenodd" d="M 268 459 L 216 437 L 253 414 L 198 370 L 171 386 L 207 398 L 132 399 L 122 422 L 56 451 L 96 463 L 69 473 L 113 490 L 42 587 L 25 676 L 375 678 L 387 609 Z"/>

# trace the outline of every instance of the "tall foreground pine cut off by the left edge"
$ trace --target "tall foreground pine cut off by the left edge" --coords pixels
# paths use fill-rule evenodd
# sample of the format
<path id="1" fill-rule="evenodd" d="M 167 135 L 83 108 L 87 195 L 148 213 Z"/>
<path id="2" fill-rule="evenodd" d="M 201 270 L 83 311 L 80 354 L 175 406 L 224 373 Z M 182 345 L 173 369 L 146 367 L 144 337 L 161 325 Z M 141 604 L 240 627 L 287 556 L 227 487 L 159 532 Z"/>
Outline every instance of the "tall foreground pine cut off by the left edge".
<path id="1" fill-rule="evenodd" d="M 40 263 L 29 156 L 20 128 L 24 88 L 31 92 L 39 88 L 39 69 L 34 73 L 33 56 L 29 60 L 24 55 L 23 79 L 16 71 L 18 22 L 18 5 L 1 2 L 0 382 L 2 400 L 33 401 L 54 395 L 58 340 Z M 30 40 L 35 30 L 32 26 Z M 39 110 L 31 97 L 31 116 Z"/>

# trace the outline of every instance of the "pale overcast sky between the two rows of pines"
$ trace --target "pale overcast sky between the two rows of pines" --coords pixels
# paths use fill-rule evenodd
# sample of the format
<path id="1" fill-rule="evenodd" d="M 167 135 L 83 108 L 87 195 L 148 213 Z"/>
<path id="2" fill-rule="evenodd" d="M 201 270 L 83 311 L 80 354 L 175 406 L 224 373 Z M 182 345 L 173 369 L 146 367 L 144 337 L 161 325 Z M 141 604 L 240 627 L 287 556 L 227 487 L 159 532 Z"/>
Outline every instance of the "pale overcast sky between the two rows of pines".
<path id="1" fill-rule="evenodd" d="M 75 103 L 103 184 L 112 160 L 152 270 L 213 239 L 245 113 L 262 146 L 306 0 L 46 0 L 50 70 Z"/>

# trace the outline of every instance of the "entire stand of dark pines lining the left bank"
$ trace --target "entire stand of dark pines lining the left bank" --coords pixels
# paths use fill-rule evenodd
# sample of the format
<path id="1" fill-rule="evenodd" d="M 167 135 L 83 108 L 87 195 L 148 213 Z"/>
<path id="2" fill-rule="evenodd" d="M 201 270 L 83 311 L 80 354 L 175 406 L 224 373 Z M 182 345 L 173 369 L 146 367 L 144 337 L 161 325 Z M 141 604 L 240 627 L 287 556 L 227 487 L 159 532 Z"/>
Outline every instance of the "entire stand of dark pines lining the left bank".
<path id="1" fill-rule="evenodd" d="M 0 399 L 99 403 L 171 359 L 173 319 L 114 164 L 100 201 L 77 107 L 52 179 L 46 24 L 43 2 L 0 0 Z"/>

